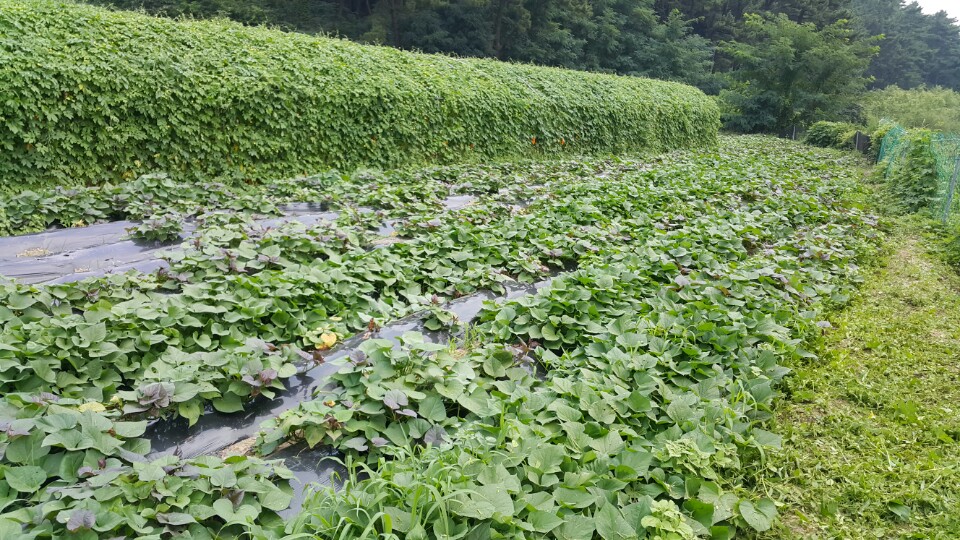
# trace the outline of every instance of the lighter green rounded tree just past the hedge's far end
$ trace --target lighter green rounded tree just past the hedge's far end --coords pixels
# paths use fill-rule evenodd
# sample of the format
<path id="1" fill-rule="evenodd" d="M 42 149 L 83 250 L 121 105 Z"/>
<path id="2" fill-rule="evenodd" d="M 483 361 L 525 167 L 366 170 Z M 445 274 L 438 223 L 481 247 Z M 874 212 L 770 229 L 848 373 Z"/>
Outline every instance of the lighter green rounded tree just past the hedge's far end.
<path id="1" fill-rule="evenodd" d="M 744 132 L 849 117 L 877 53 L 845 20 L 818 29 L 786 15 L 748 15 L 743 39 L 723 46 L 736 68 L 722 97 L 727 127 Z"/>

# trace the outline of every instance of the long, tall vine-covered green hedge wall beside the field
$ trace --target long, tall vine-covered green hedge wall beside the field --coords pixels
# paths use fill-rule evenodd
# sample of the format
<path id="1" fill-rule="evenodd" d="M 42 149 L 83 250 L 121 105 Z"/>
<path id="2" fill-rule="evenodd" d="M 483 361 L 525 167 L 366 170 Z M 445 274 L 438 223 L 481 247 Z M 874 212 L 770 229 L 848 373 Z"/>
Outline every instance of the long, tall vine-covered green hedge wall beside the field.
<path id="1" fill-rule="evenodd" d="M 712 144 L 681 84 L 0 0 L 6 191 Z"/>

